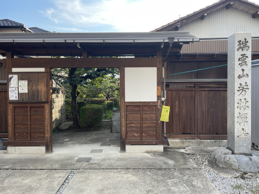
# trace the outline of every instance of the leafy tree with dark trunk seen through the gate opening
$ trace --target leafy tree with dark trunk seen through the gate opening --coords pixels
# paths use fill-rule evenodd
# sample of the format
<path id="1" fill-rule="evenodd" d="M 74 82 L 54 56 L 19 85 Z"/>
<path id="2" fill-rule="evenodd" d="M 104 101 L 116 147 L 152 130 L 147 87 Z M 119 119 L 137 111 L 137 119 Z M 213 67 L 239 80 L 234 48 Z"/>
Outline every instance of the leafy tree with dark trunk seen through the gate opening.
<path id="1" fill-rule="evenodd" d="M 71 64 L 73 66 L 73 64 Z M 118 68 L 54 68 L 52 69 L 52 79 L 66 88 L 66 98 L 71 99 L 71 112 L 73 127 L 78 128 L 76 101 L 79 96 L 94 97 L 100 92 L 84 94 L 83 88 L 94 91 L 101 87 L 106 79 L 114 79 L 119 74 Z M 102 87 L 105 87 L 102 85 Z M 108 87 L 108 86 L 107 86 Z M 98 96 L 101 97 L 101 96 Z"/>

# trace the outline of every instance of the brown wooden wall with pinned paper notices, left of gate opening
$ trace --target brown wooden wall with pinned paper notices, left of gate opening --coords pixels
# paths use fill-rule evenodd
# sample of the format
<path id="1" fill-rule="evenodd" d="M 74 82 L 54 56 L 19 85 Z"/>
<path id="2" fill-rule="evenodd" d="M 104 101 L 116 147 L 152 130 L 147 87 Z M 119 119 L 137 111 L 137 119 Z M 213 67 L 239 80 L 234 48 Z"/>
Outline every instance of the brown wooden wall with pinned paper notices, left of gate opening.
<path id="1" fill-rule="evenodd" d="M 51 152 L 52 83 L 49 69 L 9 74 L 17 74 L 18 81 L 27 80 L 28 92 L 18 93 L 18 100 L 9 100 L 8 146 L 42 145 L 46 146 L 46 152 Z"/>

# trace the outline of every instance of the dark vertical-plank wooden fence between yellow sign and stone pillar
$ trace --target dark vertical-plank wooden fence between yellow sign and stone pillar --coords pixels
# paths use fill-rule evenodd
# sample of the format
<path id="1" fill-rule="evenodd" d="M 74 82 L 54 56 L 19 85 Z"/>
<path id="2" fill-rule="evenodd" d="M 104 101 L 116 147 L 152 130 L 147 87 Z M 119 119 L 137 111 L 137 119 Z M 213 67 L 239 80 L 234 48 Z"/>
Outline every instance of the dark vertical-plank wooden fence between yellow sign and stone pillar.
<path id="1" fill-rule="evenodd" d="M 226 88 L 168 89 L 170 138 L 226 139 Z"/>

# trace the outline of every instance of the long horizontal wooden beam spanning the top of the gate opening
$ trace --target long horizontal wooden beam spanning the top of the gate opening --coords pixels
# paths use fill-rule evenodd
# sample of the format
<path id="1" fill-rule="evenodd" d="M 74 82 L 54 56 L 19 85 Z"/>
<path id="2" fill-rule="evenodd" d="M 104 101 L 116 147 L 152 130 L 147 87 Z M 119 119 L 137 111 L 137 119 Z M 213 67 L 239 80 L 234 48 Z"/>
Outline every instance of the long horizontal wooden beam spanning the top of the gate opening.
<path id="1" fill-rule="evenodd" d="M 6 59 L 3 59 L 3 63 Z M 13 68 L 156 67 L 156 57 L 138 58 L 15 58 Z"/>

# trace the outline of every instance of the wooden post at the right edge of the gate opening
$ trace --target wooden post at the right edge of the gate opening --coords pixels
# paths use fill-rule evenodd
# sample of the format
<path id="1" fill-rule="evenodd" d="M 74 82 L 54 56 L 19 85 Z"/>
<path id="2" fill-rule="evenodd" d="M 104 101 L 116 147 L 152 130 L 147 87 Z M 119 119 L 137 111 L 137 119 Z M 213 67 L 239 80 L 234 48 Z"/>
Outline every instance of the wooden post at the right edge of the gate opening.
<path id="1" fill-rule="evenodd" d="M 120 151 L 126 151 L 125 127 L 125 68 L 120 67 Z"/>

